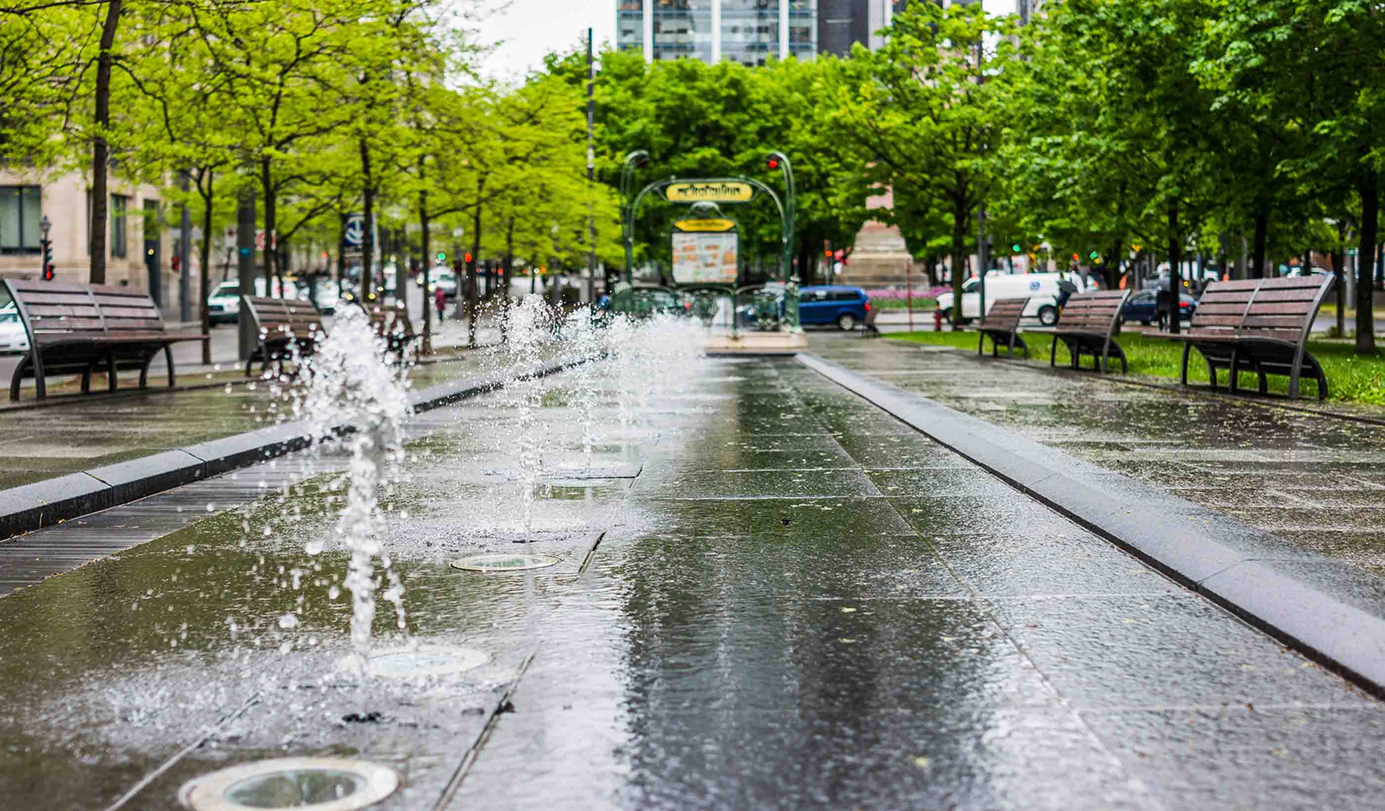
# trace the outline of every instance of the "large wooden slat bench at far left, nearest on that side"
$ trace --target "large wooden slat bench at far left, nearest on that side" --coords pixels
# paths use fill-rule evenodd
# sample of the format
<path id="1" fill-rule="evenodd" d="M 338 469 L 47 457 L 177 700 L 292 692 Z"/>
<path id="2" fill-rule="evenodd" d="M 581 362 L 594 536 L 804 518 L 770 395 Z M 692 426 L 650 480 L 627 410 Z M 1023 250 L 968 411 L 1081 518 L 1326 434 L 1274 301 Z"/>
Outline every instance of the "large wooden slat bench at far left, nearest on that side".
<path id="1" fill-rule="evenodd" d="M 10 379 L 10 400 L 19 399 L 25 378 L 33 378 L 39 399 L 47 397 L 48 375 L 82 375 L 82 393 L 90 393 L 97 367 L 105 370 L 111 392 L 116 390 L 120 370 L 138 370 L 144 389 L 150 364 L 159 353 L 168 361 L 173 386 L 172 346 L 208 339 L 201 332 L 169 332 L 154 299 L 138 289 L 17 278 L 0 282 L 29 335 L 29 352 Z"/>

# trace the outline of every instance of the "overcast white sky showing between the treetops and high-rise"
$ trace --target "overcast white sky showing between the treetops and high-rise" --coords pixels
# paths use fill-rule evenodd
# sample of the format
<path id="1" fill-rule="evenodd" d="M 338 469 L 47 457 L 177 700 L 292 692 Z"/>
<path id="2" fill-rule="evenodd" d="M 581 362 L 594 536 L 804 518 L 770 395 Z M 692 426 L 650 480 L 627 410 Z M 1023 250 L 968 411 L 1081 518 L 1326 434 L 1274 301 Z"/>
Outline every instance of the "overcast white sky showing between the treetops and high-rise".
<path id="1" fill-rule="evenodd" d="M 983 1 L 992 14 L 1015 10 L 1015 0 Z M 578 47 L 589 26 L 594 29 L 597 51 L 602 43 L 614 44 L 615 6 L 616 0 L 514 0 L 508 11 L 482 26 L 485 40 L 504 40 L 486 72 L 497 79 L 519 78 L 542 65 L 544 54 Z"/>

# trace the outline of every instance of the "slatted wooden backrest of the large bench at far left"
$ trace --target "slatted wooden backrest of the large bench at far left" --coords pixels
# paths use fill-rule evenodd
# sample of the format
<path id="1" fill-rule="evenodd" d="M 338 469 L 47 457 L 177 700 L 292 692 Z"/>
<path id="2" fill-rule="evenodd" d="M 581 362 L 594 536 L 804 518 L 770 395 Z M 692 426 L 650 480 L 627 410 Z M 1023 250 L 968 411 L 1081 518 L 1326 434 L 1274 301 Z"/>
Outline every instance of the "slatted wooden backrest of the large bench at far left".
<path id="1" fill-rule="evenodd" d="M 30 338 L 165 332 L 163 316 L 154 299 L 137 289 L 21 278 L 0 281 L 10 291 Z"/>

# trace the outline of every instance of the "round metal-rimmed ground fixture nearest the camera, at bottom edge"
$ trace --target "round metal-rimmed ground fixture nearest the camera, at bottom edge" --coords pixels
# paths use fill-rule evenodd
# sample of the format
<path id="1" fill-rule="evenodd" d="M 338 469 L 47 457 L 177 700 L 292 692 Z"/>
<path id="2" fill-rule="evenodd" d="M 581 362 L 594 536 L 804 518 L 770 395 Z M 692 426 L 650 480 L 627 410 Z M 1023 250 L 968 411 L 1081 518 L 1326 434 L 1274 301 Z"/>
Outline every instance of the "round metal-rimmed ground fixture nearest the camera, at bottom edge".
<path id="1" fill-rule="evenodd" d="M 312 808 L 356 811 L 399 787 L 399 774 L 345 757 L 281 757 L 248 763 L 183 785 L 179 800 L 194 811 Z"/>

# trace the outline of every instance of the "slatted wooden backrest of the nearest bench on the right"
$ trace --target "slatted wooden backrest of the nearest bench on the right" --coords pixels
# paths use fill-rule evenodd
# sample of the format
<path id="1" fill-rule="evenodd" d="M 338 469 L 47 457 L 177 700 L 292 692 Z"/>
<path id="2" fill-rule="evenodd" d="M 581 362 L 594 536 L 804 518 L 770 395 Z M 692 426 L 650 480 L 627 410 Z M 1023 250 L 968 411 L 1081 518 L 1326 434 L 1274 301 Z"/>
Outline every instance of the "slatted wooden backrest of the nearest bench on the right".
<path id="1" fill-rule="evenodd" d="M 1332 281 L 1331 275 L 1302 275 L 1212 282 L 1188 331 L 1298 343 L 1307 338 Z"/>

